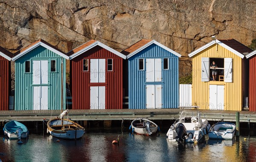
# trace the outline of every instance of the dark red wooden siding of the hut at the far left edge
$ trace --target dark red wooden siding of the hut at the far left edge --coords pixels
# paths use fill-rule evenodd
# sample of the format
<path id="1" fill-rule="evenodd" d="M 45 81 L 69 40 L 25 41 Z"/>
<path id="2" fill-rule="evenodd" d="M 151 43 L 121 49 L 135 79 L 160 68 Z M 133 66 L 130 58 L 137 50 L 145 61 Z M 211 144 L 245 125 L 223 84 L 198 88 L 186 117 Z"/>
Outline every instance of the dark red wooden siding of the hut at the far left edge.
<path id="1" fill-rule="evenodd" d="M 9 109 L 11 63 L 0 56 L 0 110 Z"/>

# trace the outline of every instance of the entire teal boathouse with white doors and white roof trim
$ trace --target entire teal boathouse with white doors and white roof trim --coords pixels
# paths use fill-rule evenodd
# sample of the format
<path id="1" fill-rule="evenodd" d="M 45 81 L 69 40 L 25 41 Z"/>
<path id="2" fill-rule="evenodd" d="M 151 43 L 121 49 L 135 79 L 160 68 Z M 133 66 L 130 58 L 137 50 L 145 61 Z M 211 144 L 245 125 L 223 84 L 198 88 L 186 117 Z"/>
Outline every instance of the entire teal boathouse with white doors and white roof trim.
<path id="1" fill-rule="evenodd" d="M 64 52 L 38 40 L 15 53 L 15 110 L 61 109 L 61 61 L 66 82 Z M 63 84 L 63 103 L 66 100 Z M 65 106 L 64 106 L 65 107 Z"/>

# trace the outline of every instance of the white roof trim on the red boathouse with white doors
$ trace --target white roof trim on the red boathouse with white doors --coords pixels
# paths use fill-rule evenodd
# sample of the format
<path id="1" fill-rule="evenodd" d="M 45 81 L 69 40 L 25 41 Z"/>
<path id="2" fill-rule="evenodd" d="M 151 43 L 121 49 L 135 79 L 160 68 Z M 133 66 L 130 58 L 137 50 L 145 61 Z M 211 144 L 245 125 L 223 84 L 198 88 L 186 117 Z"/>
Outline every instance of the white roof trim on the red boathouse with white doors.
<path id="1" fill-rule="evenodd" d="M 96 41 L 96 42 L 92 43 L 91 45 L 88 45 L 87 47 L 81 49 L 80 51 L 77 51 L 76 53 L 72 54 L 70 56 L 70 60 L 72 60 L 73 58 L 79 56 L 80 54 L 83 54 L 84 52 L 90 50 L 91 48 L 95 47 L 96 45 L 99 45 L 100 47 L 105 48 L 106 50 L 112 52 L 113 54 L 116 54 L 117 56 L 122 57 L 123 59 L 126 59 L 126 56 L 124 54 L 121 54 L 120 52 L 114 50 L 113 48 L 109 47 L 108 45 L 105 45 L 103 43 L 100 43 L 99 41 Z"/>

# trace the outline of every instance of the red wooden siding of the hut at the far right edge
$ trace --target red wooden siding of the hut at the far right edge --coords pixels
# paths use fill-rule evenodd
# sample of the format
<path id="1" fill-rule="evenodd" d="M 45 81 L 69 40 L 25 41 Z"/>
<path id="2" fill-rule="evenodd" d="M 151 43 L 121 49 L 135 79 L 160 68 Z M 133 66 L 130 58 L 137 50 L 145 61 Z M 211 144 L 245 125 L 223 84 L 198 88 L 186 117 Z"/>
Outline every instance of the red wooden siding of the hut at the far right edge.
<path id="1" fill-rule="evenodd" d="M 250 58 L 249 111 L 256 111 L 256 56 Z"/>

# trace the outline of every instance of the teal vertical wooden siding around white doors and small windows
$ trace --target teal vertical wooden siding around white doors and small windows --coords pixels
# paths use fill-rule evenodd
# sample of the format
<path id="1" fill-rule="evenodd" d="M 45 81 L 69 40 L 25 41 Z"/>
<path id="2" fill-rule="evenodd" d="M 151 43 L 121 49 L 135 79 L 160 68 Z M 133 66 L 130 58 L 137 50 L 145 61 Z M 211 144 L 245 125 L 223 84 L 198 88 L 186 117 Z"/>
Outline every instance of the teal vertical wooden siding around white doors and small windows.
<path id="1" fill-rule="evenodd" d="M 33 110 L 32 61 L 48 60 L 48 109 L 61 109 L 61 59 L 54 52 L 38 46 L 15 61 L 15 110 Z M 56 72 L 50 72 L 50 60 L 56 60 Z M 25 61 L 30 61 L 30 73 L 25 73 Z M 63 100 L 66 100 L 66 59 L 63 58 Z"/>

